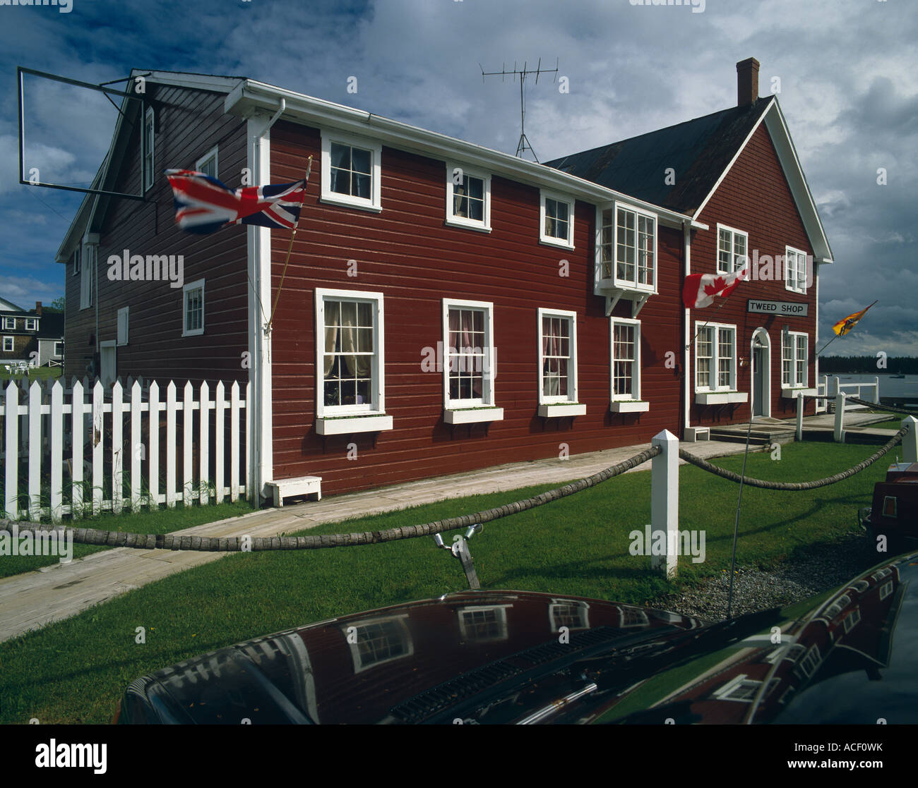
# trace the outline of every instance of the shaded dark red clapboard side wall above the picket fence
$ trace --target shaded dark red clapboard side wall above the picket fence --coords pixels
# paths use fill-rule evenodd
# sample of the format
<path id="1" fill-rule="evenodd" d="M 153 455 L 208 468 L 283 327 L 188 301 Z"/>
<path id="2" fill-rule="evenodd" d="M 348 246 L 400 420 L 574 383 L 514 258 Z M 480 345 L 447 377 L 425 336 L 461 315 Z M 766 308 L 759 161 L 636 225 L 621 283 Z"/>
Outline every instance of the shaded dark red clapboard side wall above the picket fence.
<path id="1" fill-rule="evenodd" d="M 175 227 L 168 168 L 194 169 L 218 146 L 218 177 L 241 184 L 246 166 L 246 122 L 223 113 L 224 96 L 148 83 L 155 112 L 155 180 L 152 202 L 113 198 L 98 248 L 96 304 L 79 309 L 80 277 L 67 266 L 65 374 L 82 377 L 98 340 L 116 339 L 118 309 L 129 307 L 129 343 L 117 349 L 117 374 L 176 382 L 248 380 L 242 353 L 248 348 L 245 228 L 195 236 Z M 140 193 L 140 126 L 134 129 L 115 191 Z M 184 282 L 205 280 L 205 333 L 182 336 L 182 287 L 169 282 L 109 281 L 109 255 L 183 255 Z M 96 327 L 97 319 L 97 327 Z M 98 366 L 96 365 L 96 370 Z"/>

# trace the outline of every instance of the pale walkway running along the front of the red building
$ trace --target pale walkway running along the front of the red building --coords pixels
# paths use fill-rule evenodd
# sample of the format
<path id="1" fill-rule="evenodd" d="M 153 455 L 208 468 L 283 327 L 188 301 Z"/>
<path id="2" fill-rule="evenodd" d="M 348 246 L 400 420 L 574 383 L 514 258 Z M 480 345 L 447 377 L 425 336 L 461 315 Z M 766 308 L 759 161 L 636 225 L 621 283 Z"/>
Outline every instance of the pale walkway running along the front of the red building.
<path id="1" fill-rule="evenodd" d="M 700 441 L 684 444 L 699 457 L 737 454 L 744 444 Z M 185 528 L 187 536 L 272 537 L 320 523 L 390 512 L 446 498 L 498 493 L 533 484 L 570 482 L 627 460 L 649 445 L 605 449 L 568 460 L 516 462 L 483 471 L 456 473 L 360 493 L 333 495 L 319 502 L 264 509 L 240 517 Z M 649 470 L 650 462 L 637 470 Z M 462 514 L 457 512 L 456 514 Z M 348 530 L 346 526 L 342 531 Z M 0 641 L 74 616 L 88 607 L 126 594 L 144 583 L 223 558 L 223 553 L 184 550 L 107 549 L 38 572 L 0 579 Z"/>

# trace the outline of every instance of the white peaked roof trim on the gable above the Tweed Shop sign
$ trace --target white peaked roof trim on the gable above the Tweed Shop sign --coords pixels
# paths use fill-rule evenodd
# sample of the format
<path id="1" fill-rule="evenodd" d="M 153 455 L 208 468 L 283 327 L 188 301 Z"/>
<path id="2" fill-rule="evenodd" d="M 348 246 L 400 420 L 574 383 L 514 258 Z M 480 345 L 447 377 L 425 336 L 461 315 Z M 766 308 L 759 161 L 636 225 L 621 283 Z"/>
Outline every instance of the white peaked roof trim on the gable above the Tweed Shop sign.
<path id="1" fill-rule="evenodd" d="M 708 201 L 720 187 L 727 173 L 733 168 L 733 163 L 740 157 L 746 145 L 749 144 L 749 140 L 752 139 L 752 136 L 764 121 L 768 129 L 768 134 L 771 136 L 772 144 L 775 146 L 775 151 L 778 154 L 778 162 L 781 165 L 781 169 L 784 171 L 784 176 L 788 179 L 790 194 L 794 198 L 794 203 L 797 205 L 797 210 L 800 213 L 800 220 L 803 222 L 803 228 L 806 230 L 807 237 L 810 239 L 814 257 L 821 263 L 832 262 L 833 256 L 832 249 L 829 247 L 829 239 L 825 235 L 823 222 L 819 218 L 816 203 L 812 198 L 810 184 L 807 183 L 806 176 L 803 174 L 803 168 L 800 166 L 797 150 L 794 148 L 793 140 L 790 139 L 790 132 L 784 115 L 781 112 L 780 106 L 778 106 L 778 97 L 771 96 L 771 98 L 767 100 L 770 102 L 767 109 L 758 118 L 756 125 L 746 136 L 746 139 L 743 140 L 743 144 L 739 147 L 739 150 L 736 151 L 730 163 L 727 164 L 726 168 L 721 173 L 721 177 L 717 179 L 717 183 L 714 183 L 711 192 L 704 198 L 701 205 L 699 205 L 698 209 L 695 211 L 693 224 L 701 215 L 704 206 L 708 205 Z"/>

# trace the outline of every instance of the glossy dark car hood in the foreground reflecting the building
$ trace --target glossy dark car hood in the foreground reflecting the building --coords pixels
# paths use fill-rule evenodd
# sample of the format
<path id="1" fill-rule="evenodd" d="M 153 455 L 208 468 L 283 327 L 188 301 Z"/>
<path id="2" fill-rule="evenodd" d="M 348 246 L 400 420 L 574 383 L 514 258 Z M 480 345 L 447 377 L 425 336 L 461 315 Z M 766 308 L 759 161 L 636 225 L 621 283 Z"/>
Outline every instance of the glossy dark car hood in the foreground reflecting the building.
<path id="1" fill-rule="evenodd" d="M 916 576 L 918 555 L 805 615 L 722 624 L 580 597 L 446 594 L 180 662 L 131 683 L 121 721 L 914 722 Z"/>

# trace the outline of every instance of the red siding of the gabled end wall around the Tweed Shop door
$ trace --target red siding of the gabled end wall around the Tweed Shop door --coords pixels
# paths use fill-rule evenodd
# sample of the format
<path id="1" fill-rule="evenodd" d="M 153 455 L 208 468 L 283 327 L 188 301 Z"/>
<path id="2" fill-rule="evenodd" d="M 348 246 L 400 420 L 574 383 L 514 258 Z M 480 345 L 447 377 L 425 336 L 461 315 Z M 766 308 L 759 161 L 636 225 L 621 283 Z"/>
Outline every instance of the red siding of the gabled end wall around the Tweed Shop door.
<path id="1" fill-rule="evenodd" d="M 812 255 L 807 234 L 800 221 L 800 214 L 784 172 L 781 170 L 778 154 L 768 135 L 765 124 L 759 126 L 749 140 L 742 154 L 733 163 L 708 205 L 701 211 L 699 220 L 710 226 L 710 230 L 698 232 L 692 239 L 692 273 L 714 273 L 717 271 L 717 223 L 749 233 L 748 254 L 753 250 L 759 255 L 781 255 L 785 246 L 805 251 Z M 775 316 L 746 312 L 747 299 L 760 298 L 769 301 L 788 301 L 809 305 L 809 315 Z M 793 400 L 781 398 L 781 330 L 789 326 L 791 331 L 809 333 L 808 383 L 815 386 L 816 339 L 816 287 L 806 294 L 793 293 L 785 289 L 783 279 L 778 282 L 749 281 L 740 286 L 722 307 L 717 304 L 706 309 L 691 311 L 691 331 L 695 323 L 711 320 L 715 323 L 736 325 L 737 355 L 746 363 L 737 369 L 736 384 L 741 392 L 751 389 L 750 347 L 756 328 L 764 327 L 771 339 L 771 415 L 776 418 L 794 416 L 796 404 Z M 694 375 L 694 347 L 691 350 L 691 367 Z M 694 393 L 694 377 L 690 391 Z M 694 397 L 692 397 L 694 403 Z M 749 404 L 744 405 L 692 405 L 691 423 L 711 425 L 718 422 L 743 421 L 749 418 Z M 812 414 L 813 401 L 807 407 Z"/>

